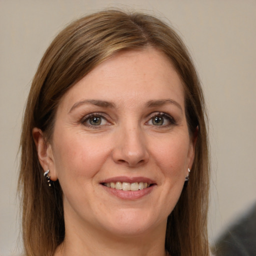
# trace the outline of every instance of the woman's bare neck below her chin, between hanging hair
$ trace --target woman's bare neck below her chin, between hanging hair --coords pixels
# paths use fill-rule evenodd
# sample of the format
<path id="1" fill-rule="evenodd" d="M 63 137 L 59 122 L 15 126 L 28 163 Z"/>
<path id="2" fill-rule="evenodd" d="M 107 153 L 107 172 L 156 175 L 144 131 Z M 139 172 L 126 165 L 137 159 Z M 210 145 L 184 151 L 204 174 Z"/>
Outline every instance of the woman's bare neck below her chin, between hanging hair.
<path id="1" fill-rule="evenodd" d="M 165 223 L 163 223 L 166 225 Z M 65 225 L 65 239 L 54 256 L 165 256 L 165 228 L 152 228 L 138 235 L 116 235 L 93 226 Z"/>

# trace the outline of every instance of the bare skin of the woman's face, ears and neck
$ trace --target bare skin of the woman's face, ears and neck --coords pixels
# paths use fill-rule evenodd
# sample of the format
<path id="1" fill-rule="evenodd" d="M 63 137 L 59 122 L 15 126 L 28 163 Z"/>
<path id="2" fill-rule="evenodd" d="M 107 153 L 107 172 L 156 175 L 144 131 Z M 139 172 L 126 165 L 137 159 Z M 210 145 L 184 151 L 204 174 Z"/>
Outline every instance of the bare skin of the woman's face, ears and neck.
<path id="1" fill-rule="evenodd" d="M 165 55 L 148 48 L 102 62 L 61 98 L 51 141 L 38 128 L 33 137 L 43 169 L 63 190 L 65 239 L 55 255 L 165 255 L 167 216 L 196 140 L 182 81 Z M 152 186 L 137 198 L 102 185 L 120 176 Z"/>

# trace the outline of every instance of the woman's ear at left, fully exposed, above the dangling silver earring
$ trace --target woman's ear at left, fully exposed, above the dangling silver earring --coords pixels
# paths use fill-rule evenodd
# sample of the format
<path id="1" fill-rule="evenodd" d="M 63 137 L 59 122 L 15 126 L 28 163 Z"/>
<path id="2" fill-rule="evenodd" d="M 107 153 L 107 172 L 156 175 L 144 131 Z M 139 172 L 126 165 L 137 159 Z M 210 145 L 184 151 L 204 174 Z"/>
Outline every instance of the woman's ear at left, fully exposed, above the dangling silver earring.
<path id="1" fill-rule="evenodd" d="M 51 144 L 45 140 L 43 132 L 39 128 L 33 128 L 32 135 L 37 150 L 38 160 L 43 170 L 46 171 L 49 169 L 50 179 L 53 181 L 57 180 Z"/>

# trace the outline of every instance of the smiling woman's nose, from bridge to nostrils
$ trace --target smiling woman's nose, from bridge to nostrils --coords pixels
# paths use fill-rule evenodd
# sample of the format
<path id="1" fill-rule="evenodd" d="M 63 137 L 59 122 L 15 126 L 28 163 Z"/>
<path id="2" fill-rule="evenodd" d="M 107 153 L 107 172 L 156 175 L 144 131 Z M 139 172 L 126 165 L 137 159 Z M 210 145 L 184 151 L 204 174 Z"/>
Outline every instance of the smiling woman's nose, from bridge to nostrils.
<path id="1" fill-rule="evenodd" d="M 114 162 L 129 167 L 146 163 L 149 154 L 143 131 L 139 127 L 120 128 L 115 134 L 112 157 Z"/>

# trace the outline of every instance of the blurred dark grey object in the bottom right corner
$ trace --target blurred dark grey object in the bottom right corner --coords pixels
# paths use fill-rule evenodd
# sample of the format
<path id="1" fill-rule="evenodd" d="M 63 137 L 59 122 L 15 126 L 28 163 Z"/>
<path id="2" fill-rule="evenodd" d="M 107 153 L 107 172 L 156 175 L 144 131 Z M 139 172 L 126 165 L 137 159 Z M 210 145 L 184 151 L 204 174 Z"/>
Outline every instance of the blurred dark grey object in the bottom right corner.
<path id="1" fill-rule="evenodd" d="M 218 239 L 216 256 L 256 256 L 256 203 Z"/>

